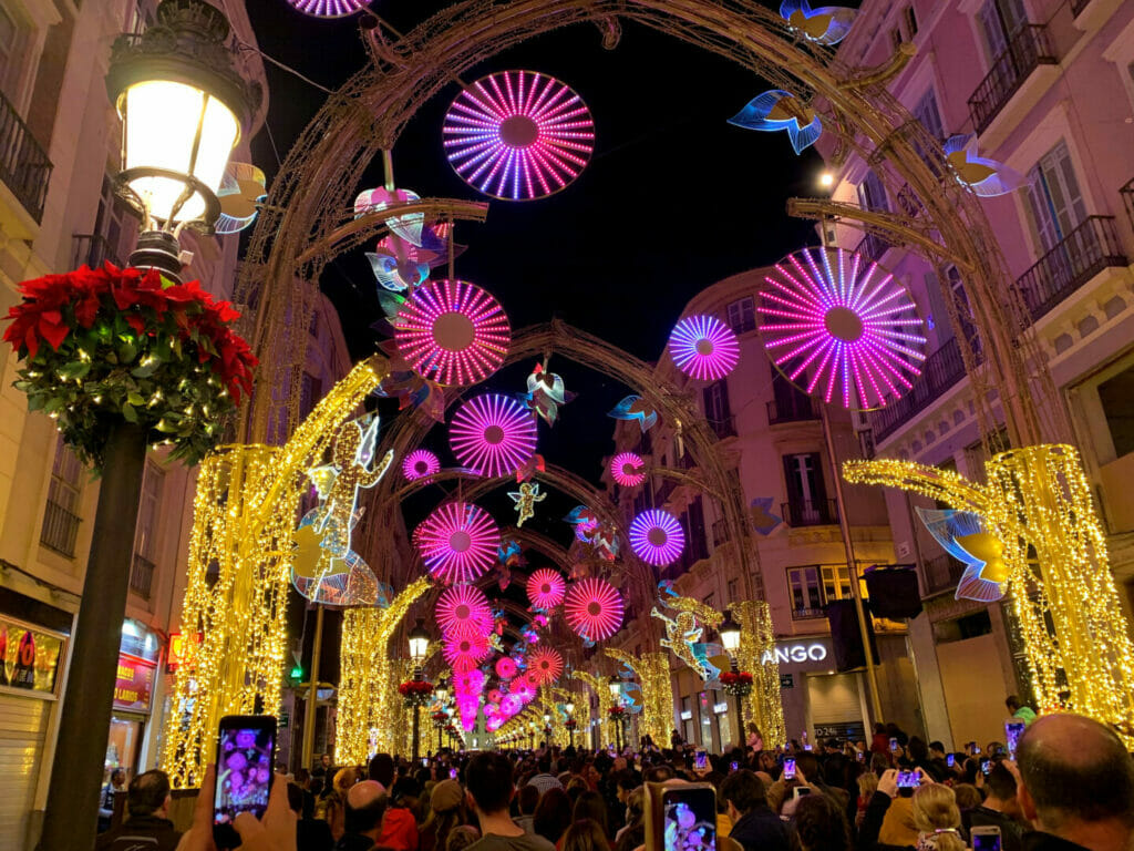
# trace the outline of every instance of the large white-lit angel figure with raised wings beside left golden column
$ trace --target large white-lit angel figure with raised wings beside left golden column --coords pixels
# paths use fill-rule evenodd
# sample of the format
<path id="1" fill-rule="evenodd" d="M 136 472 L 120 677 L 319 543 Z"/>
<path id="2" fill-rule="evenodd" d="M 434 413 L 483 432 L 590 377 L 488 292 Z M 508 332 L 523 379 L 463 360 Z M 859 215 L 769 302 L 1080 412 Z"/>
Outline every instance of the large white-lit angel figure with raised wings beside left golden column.
<path id="1" fill-rule="evenodd" d="M 350 532 L 361 516 L 358 491 L 374 487 L 386 474 L 393 452 L 374 463 L 380 420 L 347 423 L 335 441 L 332 463 L 307 475 L 319 492 L 319 505 L 307 512 L 293 540 L 291 580 L 299 593 L 332 605 L 374 605 L 378 582 L 366 563 L 350 549 Z M 328 599 L 328 597 L 333 599 Z"/>

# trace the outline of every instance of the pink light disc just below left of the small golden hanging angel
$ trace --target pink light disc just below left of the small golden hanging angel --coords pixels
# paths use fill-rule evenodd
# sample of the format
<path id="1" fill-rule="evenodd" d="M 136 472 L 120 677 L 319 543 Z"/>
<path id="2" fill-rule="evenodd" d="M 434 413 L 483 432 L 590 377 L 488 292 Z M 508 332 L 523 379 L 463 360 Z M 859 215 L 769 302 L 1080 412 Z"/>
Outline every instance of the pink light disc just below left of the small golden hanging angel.
<path id="1" fill-rule="evenodd" d="M 442 582 L 472 582 L 496 561 L 500 532 L 483 508 L 449 503 L 414 530 L 425 567 Z"/>

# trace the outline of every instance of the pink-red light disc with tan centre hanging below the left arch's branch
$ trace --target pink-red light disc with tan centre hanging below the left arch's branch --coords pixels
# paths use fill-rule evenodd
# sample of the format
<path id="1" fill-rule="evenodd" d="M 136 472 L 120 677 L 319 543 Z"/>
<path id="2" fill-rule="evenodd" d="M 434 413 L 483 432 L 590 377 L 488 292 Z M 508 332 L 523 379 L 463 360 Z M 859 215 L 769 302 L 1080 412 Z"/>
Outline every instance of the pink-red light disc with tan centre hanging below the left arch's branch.
<path id="1" fill-rule="evenodd" d="M 398 309 L 391 325 L 409 366 L 447 386 L 483 381 L 500 368 L 511 342 L 500 303 L 464 280 L 426 281 Z"/>

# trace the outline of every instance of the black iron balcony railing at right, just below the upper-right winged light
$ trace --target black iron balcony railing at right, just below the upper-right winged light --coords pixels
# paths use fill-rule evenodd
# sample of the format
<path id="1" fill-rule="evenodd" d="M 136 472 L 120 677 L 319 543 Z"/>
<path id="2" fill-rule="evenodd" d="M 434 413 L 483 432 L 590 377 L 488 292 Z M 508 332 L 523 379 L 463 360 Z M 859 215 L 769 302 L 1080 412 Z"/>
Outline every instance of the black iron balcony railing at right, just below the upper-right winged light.
<path id="1" fill-rule="evenodd" d="M 1114 216 L 1089 216 L 1016 279 L 1036 320 L 1108 267 L 1126 266 Z"/>

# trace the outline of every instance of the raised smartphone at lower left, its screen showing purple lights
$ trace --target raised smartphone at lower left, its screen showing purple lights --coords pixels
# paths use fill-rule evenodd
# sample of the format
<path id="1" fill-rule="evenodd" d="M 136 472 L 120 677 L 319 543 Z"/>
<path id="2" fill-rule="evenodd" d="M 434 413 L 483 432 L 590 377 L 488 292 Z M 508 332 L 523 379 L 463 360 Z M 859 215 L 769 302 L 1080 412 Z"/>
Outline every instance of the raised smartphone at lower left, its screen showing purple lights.
<path id="1" fill-rule="evenodd" d="M 240 812 L 262 818 L 276 765 L 276 718 L 226 715 L 217 732 L 217 794 L 213 839 L 219 848 L 237 848 L 232 819 Z"/>

